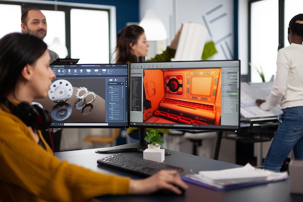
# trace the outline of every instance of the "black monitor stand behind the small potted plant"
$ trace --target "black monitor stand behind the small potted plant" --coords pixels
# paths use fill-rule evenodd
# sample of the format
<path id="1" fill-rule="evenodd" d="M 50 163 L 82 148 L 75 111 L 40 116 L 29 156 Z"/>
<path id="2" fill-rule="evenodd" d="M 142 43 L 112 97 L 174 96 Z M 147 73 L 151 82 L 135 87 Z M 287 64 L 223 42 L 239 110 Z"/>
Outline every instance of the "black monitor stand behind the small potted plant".
<path id="1" fill-rule="evenodd" d="M 123 153 L 123 152 L 142 152 L 147 149 L 147 143 L 144 140 L 146 136 L 145 128 L 138 128 L 139 130 L 139 142 L 122 144 L 113 147 L 100 148 L 96 151 L 99 154 L 112 154 L 112 153 Z M 165 151 L 165 155 L 171 155 L 169 152 Z"/>

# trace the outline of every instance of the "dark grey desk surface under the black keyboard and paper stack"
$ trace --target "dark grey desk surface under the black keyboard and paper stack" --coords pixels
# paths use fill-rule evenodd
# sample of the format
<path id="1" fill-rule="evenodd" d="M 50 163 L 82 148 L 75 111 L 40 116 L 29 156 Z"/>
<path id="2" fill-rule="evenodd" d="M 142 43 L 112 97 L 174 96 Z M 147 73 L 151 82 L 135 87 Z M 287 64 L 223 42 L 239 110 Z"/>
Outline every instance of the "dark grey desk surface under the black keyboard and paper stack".
<path id="1" fill-rule="evenodd" d="M 111 154 L 96 154 L 98 149 L 76 150 L 55 153 L 61 160 L 77 164 L 93 171 L 130 176 L 137 179 L 137 176 L 108 168 L 99 168 L 97 159 Z M 221 170 L 240 167 L 236 164 L 226 163 L 196 155 L 175 152 L 169 150 L 171 155 L 165 156 L 165 163 L 182 167 L 185 175 L 200 170 Z M 129 153 L 142 157 L 142 153 Z M 184 196 L 103 196 L 98 197 L 102 202 L 302 202 L 303 195 L 290 194 L 289 180 L 280 181 L 265 185 L 243 187 L 228 191 L 213 191 L 201 186 L 189 184 L 189 189 Z"/>

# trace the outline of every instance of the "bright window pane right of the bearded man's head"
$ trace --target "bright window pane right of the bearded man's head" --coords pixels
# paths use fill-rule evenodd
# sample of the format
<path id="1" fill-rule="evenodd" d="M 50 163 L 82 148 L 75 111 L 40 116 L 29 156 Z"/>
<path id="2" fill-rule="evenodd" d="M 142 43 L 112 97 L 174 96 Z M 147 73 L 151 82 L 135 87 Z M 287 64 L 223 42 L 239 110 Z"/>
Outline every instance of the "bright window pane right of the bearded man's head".
<path id="1" fill-rule="evenodd" d="M 79 58 L 79 63 L 109 63 L 108 21 L 107 11 L 71 9 L 72 58 Z"/>

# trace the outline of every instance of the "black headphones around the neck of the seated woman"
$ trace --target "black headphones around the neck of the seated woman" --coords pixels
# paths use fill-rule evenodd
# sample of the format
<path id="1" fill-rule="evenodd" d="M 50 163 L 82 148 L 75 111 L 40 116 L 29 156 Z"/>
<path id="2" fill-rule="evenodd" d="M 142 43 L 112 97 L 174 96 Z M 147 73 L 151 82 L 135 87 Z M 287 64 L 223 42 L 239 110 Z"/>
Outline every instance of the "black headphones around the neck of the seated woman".
<path id="1" fill-rule="evenodd" d="M 1 98 L 1 103 L 10 109 L 15 116 L 19 117 L 24 124 L 37 130 L 49 128 L 51 118 L 48 112 L 39 105 L 31 105 L 28 102 L 20 102 L 18 105 L 14 105 L 6 97 Z"/>

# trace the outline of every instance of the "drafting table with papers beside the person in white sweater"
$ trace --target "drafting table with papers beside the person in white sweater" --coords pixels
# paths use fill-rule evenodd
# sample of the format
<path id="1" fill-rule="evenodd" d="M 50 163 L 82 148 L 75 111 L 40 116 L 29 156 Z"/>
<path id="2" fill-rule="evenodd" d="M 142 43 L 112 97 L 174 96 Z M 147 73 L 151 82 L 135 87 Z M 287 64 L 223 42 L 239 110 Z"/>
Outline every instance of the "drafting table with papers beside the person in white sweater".
<path id="1" fill-rule="evenodd" d="M 256 104 L 256 99 L 267 99 L 272 87 L 273 82 L 241 82 L 240 112 L 243 118 L 235 140 L 257 143 L 257 166 L 262 166 L 262 142 L 272 140 L 279 125 L 277 116 L 282 113 L 279 105 L 264 111 Z"/>

